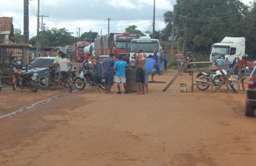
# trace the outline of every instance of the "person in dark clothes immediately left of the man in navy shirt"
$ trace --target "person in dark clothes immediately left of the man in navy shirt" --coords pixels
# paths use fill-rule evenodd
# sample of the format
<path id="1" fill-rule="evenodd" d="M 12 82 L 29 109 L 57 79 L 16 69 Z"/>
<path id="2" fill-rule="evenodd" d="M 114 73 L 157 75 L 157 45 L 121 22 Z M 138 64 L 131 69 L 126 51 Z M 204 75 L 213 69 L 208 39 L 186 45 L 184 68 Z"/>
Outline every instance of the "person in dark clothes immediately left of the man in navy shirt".
<path id="1" fill-rule="evenodd" d="M 100 57 L 95 57 L 95 63 L 92 65 L 93 75 L 94 75 L 94 84 L 95 84 L 95 91 L 100 92 L 100 84 L 102 78 L 102 65 L 100 64 Z"/>

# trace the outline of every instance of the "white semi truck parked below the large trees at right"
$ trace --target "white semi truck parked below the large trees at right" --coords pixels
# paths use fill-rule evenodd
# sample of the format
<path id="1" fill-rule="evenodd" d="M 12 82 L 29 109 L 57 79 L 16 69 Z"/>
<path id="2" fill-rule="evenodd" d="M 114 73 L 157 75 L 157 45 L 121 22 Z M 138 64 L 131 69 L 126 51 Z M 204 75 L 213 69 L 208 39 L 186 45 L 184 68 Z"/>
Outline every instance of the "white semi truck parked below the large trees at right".
<path id="1" fill-rule="evenodd" d="M 228 58 L 228 61 L 232 63 L 235 57 L 241 57 L 246 50 L 245 37 L 224 37 L 220 43 L 212 45 L 210 51 L 210 62 L 214 62 L 219 57 Z"/>

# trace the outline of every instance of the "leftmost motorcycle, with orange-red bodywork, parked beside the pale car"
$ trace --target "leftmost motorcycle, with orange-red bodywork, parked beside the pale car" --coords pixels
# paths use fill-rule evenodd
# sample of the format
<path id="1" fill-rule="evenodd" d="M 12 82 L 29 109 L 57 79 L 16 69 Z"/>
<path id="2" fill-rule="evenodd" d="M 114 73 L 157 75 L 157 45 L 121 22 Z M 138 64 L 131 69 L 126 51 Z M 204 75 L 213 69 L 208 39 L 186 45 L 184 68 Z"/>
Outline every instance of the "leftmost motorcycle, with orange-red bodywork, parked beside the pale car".
<path id="1" fill-rule="evenodd" d="M 21 68 L 21 61 L 16 62 L 15 65 L 12 67 L 12 89 L 15 91 L 17 86 L 21 87 L 21 89 L 24 89 L 24 87 L 28 87 L 28 89 L 30 89 L 31 91 L 37 92 L 37 73 L 34 73 L 33 71 L 24 73 L 23 71 L 21 71 Z"/>

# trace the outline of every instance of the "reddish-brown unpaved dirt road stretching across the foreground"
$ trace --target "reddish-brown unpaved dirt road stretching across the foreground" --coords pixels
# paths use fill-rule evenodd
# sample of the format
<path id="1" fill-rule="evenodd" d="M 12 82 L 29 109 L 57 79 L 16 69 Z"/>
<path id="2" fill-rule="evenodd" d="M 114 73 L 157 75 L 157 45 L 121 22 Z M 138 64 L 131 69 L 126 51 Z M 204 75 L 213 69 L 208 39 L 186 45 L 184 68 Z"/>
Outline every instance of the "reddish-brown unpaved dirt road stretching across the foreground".
<path id="1" fill-rule="evenodd" d="M 187 73 L 174 83 L 166 93 L 167 84 L 151 83 L 145 95 L 4 87 L 0 116 L 42 102 L 0 118 L 0 165 L 256 165 L 245 93 L 179 93 Z"/>

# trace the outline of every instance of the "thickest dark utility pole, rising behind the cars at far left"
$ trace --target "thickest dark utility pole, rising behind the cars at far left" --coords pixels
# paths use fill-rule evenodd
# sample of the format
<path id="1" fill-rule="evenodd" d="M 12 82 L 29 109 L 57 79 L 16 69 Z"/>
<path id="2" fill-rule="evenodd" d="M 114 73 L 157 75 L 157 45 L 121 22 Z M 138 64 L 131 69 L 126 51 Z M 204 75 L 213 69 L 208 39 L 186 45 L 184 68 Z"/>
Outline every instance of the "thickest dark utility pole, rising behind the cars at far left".
<path id="1" fill-rule="evenodd" d="M 29 16 L 28 16 L 28 0 L 24 0 L 24 44 L 28 44 L 29 39 Z M 23 59 L 26 64 L 28 64 L 29 58 L 29 48 L 24 48 Z"/>

